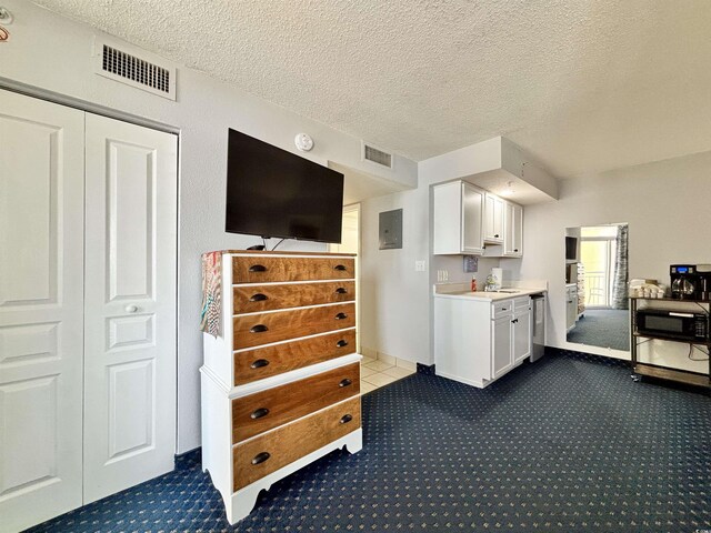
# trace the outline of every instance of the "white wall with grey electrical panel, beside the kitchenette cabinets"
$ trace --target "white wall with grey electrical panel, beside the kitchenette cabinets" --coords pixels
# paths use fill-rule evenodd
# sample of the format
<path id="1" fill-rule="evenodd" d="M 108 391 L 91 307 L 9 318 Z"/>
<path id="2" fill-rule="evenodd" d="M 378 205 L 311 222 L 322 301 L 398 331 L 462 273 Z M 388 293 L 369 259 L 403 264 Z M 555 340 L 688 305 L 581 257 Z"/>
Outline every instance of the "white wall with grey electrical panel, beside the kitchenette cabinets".
<path id="1" fill-rule="evenodd" d="M 408 361 L 432 364 L 432 285 L 437 271 L 450 282 L 471 281 L 461 255 L 430 255 L 431 185 L 501 165 L 499 138 L 419 163 L 417 190 L 362 202 L 361 346 Z M 401 250 L 379 250 L 379 213 L 403 210 Z M 427 272 L 414 262 L 427 261 Z M 509 260 L 517 264 L 520 260 Z M 477 281 L 483 283 L 499 259 L 480 258 Z M 518 271 L 518 265 L 517 265 Z"/>

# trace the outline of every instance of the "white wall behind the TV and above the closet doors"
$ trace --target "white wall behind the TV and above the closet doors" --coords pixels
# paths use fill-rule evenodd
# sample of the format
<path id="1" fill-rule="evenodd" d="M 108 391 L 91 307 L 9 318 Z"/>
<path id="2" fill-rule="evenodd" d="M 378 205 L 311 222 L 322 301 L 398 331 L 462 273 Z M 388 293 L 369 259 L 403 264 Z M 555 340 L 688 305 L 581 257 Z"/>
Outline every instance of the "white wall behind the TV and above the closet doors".
<path id="1" fill-rule="evenodd" d="M 414 187 L 417 165 L 395 157 L 395 171 L 363 168 L 360 140 L 264 102 L 202 73 L 179 68 L 178 102 L 96 76 L 91 28 L 22 0 L 3 2 L 14 22 L 0 44 L 0 86 L 24 84 L 43 94 L 102 107 L 114 117 L 134 115 L 180 131 L 178 451 L 200 445 L 199 374 L 202 359 L 200 254 L 240 249 L 257 238 L 224 232 L 227 129 L 234 128 L 296 152 L 293 137 L 309 133 L 316 148 L 301 154 Z M 323 250 L 320 244 L 286 243 L 283 249 Z"/>

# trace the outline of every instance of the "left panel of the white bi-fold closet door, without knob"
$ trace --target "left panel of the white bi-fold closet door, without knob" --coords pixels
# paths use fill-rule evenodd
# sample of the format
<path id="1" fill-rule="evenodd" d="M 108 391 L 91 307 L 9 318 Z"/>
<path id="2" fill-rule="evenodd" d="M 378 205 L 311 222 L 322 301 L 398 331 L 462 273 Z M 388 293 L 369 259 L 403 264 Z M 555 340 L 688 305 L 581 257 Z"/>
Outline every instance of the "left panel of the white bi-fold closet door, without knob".
<path id="1" fill-rule="evenodd" d="M 0 530 L 81 505 L 84 113 L 0 91 Z"/>

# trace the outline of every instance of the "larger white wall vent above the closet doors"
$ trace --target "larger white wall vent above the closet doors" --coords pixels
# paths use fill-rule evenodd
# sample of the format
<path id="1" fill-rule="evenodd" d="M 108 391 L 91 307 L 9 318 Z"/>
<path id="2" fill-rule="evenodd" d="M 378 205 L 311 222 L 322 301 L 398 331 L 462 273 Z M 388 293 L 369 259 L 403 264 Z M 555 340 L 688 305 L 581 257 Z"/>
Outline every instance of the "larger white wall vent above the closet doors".
<path id="1" fill-rule="evenodd" d="M 143 51 L 129 53 L 127 48 L 97 40 L 96 73 L 176 100 L 176 68 L 161 64 L 164 62 L 156 61 L 157 58 L 148 57 Z"/>

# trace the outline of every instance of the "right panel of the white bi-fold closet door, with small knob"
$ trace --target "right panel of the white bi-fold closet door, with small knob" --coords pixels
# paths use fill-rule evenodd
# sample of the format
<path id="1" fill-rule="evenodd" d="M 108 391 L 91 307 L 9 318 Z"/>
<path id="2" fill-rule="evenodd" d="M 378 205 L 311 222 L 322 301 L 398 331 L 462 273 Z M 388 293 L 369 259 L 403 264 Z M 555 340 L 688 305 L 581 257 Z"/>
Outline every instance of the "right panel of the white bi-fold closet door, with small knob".
<path id="1" fill-rule="evenodd" d="M 173 469 L 177 138 L 87 114 L 84 503 Z"/>

